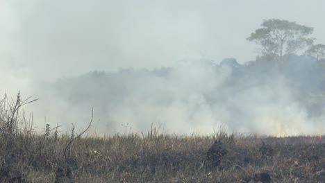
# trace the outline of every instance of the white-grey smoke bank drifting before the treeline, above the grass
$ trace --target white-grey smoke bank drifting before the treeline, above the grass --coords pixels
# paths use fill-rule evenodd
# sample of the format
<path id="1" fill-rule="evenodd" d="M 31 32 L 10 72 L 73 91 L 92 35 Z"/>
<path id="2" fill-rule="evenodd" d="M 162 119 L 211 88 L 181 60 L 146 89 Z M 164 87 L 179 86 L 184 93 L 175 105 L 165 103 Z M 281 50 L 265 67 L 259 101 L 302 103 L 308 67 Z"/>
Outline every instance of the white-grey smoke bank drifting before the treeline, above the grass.
<path id="1" fill-rule="evenodd" d="M 153 70 L 92 71 L 43 85 L 49 101 L 56 98 L 49 105 L 60 106 L 60 112 L 44 109 L 57 121 L 82 125 L 94 107 L 99 134 L 145 132 L 151 124 L 176 134 L 210 134 L 220 127 L 249 134 L 319 134 L 324 68 L 324 60 L 290 55 L 281 66 L 274 60 L 182 60 Z"/>

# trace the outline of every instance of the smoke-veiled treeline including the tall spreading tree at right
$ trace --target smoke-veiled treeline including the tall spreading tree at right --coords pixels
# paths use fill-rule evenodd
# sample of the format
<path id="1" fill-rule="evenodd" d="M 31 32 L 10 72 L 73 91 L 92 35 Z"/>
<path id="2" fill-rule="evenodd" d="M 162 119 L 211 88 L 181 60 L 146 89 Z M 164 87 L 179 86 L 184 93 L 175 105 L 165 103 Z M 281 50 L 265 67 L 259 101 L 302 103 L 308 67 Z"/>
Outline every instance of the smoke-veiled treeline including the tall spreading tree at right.
<path id="1" fill-rule="evenodd" d="M 181 60 L 173 67 L 90 71 L 62 78 L 48 91 L 67 104 L 69 116 L 94 107 L 110 132 L 130 123 L 147 129 L 157 121 L 178 132 L 221 123 L 230 131 L 265 132 L 274 121 L 280 129 L 300 121 L 290 125 L 303 132 L 325 119 L 325 60 L 322 49 L 311 51 L 317 46 L 312 32 L 295 22 L 265 20 L 249 37 L 263 48 L 250 62 Z"/>

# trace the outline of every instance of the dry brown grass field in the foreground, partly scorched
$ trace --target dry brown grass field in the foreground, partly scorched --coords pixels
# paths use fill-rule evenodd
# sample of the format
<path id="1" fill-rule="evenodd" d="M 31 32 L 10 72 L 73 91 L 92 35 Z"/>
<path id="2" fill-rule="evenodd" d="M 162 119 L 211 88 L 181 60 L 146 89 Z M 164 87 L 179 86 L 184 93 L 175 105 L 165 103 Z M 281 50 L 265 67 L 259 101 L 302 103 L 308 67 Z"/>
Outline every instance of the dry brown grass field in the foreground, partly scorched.
<path id="1" fill-rule="evenodd" d="M 1 116 L 1 129 L 8 129 L 11 118 Z M 58 167 L 65 165 L 75 182 L 249 182 L 249 177 L 253 182 L 258 173 L 271 175 L 272 182 L 325 180 L 325 143 L 320 137 L 260 139 L 224 132 L 187 137 L 151 128 L 146 135 L 77 138 L 65 157 L 71 135 L 58 136 L 54 130 L 34 134 L 30 121 L 19 125 L 17 116 L 14 121 L 14 130 L 0 133 L 2 182 L 10 182 L 3 178 L 8 172 L 22 173 L 17 182 L 55 182 Z M 221 139 L 228 153 L 212 167 L 206 152 L 215 139 Z M 262 140 L 272 153 L 261 153 Z"/>

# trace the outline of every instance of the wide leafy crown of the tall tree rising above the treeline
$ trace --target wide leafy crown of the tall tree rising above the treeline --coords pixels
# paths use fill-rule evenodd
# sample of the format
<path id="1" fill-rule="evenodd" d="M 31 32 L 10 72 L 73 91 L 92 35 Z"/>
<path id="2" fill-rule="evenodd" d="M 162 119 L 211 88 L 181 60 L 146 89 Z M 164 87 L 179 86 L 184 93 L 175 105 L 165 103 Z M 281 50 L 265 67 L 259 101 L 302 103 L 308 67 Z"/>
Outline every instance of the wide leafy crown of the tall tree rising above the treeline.
<path id="1" fill-rule="evenodd" d="M 294 21 L 281 19 L 263 20 L 262 28 L 258 28 L 247 40 L 263 47 L 263 55 L 282 58 L 288 53 L 297 53 L 313 44 L 313 28 L 302 26 Z"/>

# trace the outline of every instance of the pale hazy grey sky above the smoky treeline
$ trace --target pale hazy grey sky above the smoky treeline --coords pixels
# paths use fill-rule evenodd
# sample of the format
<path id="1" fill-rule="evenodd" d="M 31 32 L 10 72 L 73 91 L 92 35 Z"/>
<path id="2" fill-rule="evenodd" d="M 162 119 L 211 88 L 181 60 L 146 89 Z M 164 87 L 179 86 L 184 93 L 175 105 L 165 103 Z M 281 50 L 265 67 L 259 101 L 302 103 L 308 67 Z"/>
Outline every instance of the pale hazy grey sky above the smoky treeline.
<path id="1" fill-rule="evenodd" d="M 245 62 L 258 51 L 246 38 L 263 19 L 314 27 L 325 43 L 324 7 L 322 0 L 0 0 L 1 70 L 53 80 L 184 58 Z"/>

